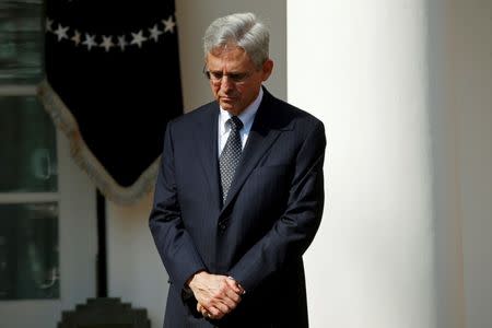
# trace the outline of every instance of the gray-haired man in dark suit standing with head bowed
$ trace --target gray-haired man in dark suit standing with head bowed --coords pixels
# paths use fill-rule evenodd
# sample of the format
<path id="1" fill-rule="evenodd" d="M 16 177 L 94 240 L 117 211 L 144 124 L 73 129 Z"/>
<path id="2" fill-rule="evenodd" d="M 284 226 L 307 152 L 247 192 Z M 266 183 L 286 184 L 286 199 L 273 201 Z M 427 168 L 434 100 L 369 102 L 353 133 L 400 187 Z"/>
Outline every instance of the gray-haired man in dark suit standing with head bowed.
<path id="1" fill-rule="evenodd" d="M 325 130 L 261 84 L 269 33 L 215 20 L 215 101 L 167 126 L 150 229 L 169 276 L 164 327 L 307 327 L 302 255 L 324 208 Z"/>

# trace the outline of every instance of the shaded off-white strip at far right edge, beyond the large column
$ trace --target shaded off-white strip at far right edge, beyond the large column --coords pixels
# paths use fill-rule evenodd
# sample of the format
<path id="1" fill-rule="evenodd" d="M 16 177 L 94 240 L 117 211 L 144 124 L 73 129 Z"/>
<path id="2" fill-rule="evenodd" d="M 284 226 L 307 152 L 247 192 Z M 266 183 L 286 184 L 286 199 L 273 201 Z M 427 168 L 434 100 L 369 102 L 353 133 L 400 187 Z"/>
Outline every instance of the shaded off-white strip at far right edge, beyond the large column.
<path id="1" fill-rule="evenodd" d="M 467 328 L 492 326 L 492 1 L 455 3 Z"/>

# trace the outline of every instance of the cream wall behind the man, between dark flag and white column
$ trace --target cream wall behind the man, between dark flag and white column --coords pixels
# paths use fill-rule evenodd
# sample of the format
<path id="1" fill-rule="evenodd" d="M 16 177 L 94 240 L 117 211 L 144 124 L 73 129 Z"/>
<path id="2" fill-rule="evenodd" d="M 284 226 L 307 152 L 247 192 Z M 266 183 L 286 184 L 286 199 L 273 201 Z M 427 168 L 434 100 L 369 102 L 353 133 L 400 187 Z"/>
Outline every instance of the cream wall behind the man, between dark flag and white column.
<path id="1" fill-rule="evenodd" d="M 186 112 L 212 99 L 202 75 L 201 38 L 206 27 L 215 17 L 244 11 L 256 12 L 270 27 L 270 56 L 276 67 L 267 87 L 285 98 L 285 1 L 176 0 Z M 150 196 L 132 207 L 107 204 L 108 294 L 134 307 L 145 307 L 152 327 L 156 328 L 163 323 L 167 274 L 149 232 L 150 209 Z"/>

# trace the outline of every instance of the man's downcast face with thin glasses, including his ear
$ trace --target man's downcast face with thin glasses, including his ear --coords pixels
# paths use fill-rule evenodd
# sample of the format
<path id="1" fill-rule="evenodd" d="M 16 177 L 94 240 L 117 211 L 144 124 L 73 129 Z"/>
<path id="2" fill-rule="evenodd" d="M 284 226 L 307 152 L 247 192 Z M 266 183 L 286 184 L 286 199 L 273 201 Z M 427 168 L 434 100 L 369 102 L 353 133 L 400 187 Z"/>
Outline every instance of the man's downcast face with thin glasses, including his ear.
<path id="1" fill-rule="evenodd" d="M 273 62 L 268 59 L 257 69 L 237 46 L 215 49 L 207 55 L 210 86 L 221 107 L 239 115 L 258 96 L 261 83 L 270 77 Z"/>

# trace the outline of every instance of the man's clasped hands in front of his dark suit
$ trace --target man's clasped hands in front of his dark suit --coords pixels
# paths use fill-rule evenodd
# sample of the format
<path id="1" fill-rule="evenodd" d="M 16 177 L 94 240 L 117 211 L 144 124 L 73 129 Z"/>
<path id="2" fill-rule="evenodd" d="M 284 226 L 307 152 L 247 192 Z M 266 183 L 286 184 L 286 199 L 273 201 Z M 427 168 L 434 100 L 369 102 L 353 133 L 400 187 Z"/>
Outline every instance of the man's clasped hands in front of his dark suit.
<path id="1" fill-rule="evenodd" d="M 188 281 L 188 286 L 198 301 L 197 311 L 211 319 L 221 319 L 231 313 L 245 293 L 233 278 L 206 271 L 195 273 Z"/>

